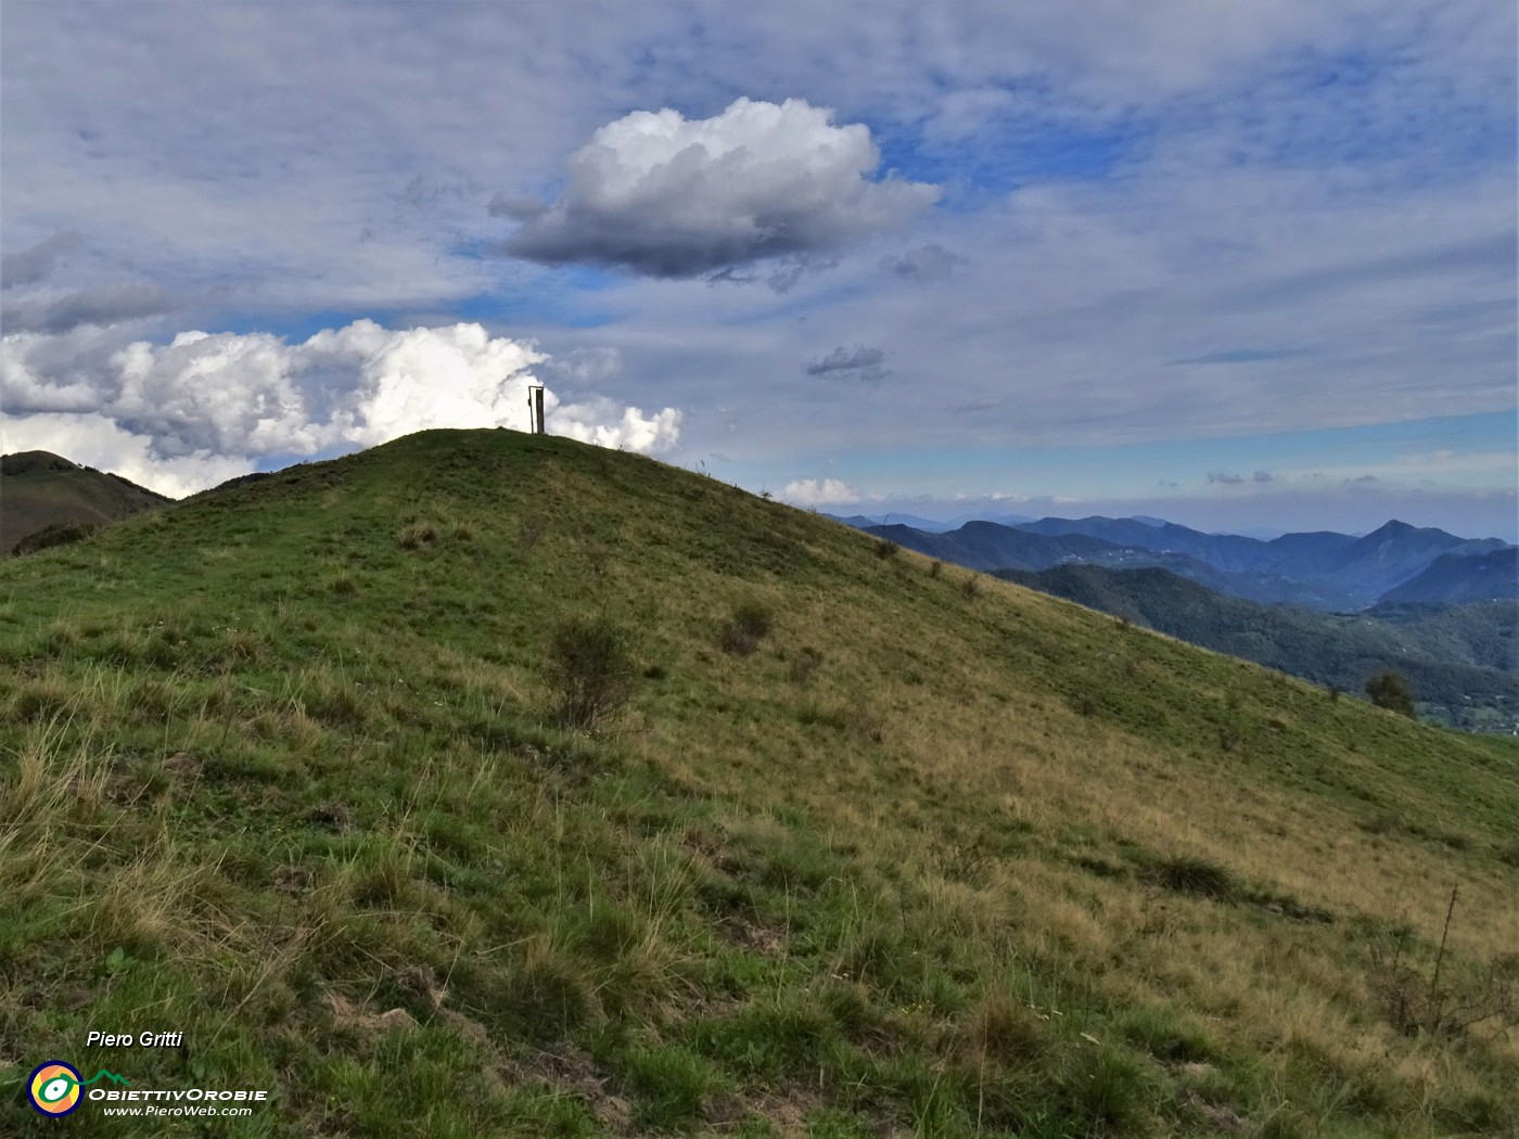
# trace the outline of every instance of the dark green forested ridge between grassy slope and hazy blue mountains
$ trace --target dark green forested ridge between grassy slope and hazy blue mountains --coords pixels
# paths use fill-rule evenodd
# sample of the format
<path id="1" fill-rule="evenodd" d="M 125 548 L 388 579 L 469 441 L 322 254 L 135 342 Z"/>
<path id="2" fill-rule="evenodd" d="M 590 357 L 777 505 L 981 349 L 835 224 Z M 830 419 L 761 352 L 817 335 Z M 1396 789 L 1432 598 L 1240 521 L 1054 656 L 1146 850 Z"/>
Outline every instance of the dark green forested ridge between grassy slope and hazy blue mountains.
<path id="1" fill-rule="evenodd" d="M 1511 730 L 1519 718 L 1519 600 L 1322 614 L 1224 597 L 1165 570 L 1062 565 L 996 576 L 1347 693 L 1396 668 L 1422 711 L 1442 720 Z"/>

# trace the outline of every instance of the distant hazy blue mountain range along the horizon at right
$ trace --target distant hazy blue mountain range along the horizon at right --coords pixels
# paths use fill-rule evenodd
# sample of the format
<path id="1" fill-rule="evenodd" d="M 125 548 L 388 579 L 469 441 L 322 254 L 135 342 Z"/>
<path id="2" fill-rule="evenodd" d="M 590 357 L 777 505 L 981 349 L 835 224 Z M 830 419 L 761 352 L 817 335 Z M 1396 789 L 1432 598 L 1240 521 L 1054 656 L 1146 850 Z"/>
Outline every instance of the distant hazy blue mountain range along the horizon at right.
<path id="1" fill-rule="evenodd" d="M 1513 548 L 1496 538 L 1464 539 L 1437 528 L 1391 521 L 1364 538 L 1293 533 L 1270 541 L 1205 535 L 1138 518 L 1044 518 L 1015 527 L 969 522 L 939 535 L 905 527 L 867 527 L 911 550 L 977 570 L 1047 570 L 1078 562 L 1110 568 L 1159 565 L 1211 589 L 1252 601 L 1290 601 L 1329 612 L 1367 609 L 1443 554 Z M 989 528 L 992 527 L 992 528 Z M 1036 539 L 1103 545 L 1069 547 Z M 1505 597 L 1510 594 L 1489 594 Z M 1478 600 L 1478 598 L 1463 598 Z"/>

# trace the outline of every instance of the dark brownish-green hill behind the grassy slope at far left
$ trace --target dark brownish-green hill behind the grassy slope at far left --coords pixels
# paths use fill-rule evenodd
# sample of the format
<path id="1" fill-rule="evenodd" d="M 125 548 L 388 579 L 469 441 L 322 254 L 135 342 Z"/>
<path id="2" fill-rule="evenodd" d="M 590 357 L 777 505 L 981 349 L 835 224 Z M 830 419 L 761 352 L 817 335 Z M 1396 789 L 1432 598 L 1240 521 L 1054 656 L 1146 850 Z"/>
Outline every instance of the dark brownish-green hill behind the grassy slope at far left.
<path id="1" fill-rule="evenodd" d="M 0 456 L 0 556 L 106 525 L 170 498 L 50 451 Z"/>

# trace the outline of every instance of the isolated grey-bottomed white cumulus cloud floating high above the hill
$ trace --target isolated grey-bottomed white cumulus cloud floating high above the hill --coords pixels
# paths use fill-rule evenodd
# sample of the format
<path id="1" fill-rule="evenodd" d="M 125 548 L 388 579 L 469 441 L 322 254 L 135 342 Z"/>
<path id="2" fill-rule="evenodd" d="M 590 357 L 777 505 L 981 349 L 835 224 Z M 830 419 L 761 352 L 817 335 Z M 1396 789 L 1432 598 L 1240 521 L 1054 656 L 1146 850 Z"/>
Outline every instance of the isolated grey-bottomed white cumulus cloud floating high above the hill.
<path id="1" fill-rule="evenodd" d="M 802 99 L 740 99 L 712 118 L 635 111 L 571 155 L 547 210 L 506 243 L 544 264 L 690 278 L 775 257 L 828 255 L 907 222 L 939 197 L 922 182 L 872 182 L 881 155 L 861 123 L 832 126 Z"/>

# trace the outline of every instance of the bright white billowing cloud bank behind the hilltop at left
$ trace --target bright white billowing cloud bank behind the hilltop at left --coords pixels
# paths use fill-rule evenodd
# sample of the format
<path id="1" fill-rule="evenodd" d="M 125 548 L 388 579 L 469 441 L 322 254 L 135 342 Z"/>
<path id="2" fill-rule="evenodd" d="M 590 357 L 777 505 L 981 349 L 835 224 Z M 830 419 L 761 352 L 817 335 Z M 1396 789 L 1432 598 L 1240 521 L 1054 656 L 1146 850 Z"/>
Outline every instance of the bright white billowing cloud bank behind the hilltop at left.
<path id="1" fill-rule="evenodd" d="M 263 456 L 374 446 L 431 427 L 529 425 L 527 387 L 547 357 L 477 323 L 387 330 L 372 320 L 302 343 L 269 333 L 181 333 L 111 354 L 59 355 L 14 334 L 0 354 L 8 448 L 58 451 L 149 486 L 201 489 Z M 681 413 L 544 393 L 550 433 L 661 451 Z M 35 442 L 47 439 L 50 445 Z"/>

